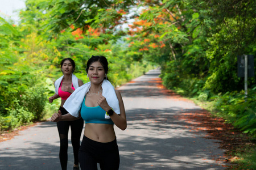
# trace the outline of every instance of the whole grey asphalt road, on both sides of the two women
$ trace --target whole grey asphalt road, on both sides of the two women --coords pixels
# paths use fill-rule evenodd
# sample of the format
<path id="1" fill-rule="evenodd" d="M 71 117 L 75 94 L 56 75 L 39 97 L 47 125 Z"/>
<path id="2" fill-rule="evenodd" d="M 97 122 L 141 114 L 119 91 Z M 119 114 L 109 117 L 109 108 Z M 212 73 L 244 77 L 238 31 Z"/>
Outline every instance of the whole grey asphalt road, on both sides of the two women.
<path id="1" fill-rule="evenodd" d="M 219 141 L 205 138 L 205 131 L 177 118 L 201 108 L 171 97 L 159 86 L 159 74 L 159 70 L 151 70 L 118 88 L 127 115 L 127 129 L 115 127 L 119 169 L 225 169 L 216 160 L 224 154 Z M 68 153 L 68 168 L 72 169 L 70 133 Z M 1 142 L 0 169 L 61 169 L 56 123 L 40 122 Z"/>

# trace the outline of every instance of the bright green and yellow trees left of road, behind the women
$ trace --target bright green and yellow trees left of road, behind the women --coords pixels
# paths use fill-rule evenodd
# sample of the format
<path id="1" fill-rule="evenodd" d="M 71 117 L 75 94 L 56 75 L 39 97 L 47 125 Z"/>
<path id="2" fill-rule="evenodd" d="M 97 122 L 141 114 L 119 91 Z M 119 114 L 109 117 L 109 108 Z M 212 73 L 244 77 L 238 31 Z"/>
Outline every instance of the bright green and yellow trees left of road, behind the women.
<path id="1" fill-rule="evenodd" d="M 59 63 L 63 58 L 75 60 L 75 74 L 84 83 L 88 81 L 86 62 L 92 55 L 108 58 L 109 78 L 116 86 L 152 68 L 150 62 L 131 61 L 130 54 L 124 51 L 123 46 L 116 44 L 119 35 L 114 36 L 105 30 L 102 33 L 97 24 L 94 25 L 95 28 L 88 25 L 90 22 L 80 25 L 84 21 L 77 20 L 77 23 L 73 23 L 69 16 L 73 17 L 76 11 L 71 8 L 82 5 L 77 2 L 79 1 L 58 1 L 53 5 L 53 2 L 31 0 L 26 2 L 27 10 L 20 12 L 20 25 L 11 25 L 1 18 L 0 38 L 3 41 L 0 42 L 0 130 L 11 130 L 32 121 L 48 119 L 59 108 L 60 99 L 49 104 L 47 98 L 55 93 L 53 82 L 61 76 Z M 69 3 L 73 3 L 73 6 Z M 59 10 L 61 5 L 63 6 Z M 99 14 L 104 12 L 94 3 L 85 8 L 94 9 Z M 86 18 L 100 22 L 104 22 L 105 17 L 112 16 L 112 19 L 105 21 L 111 25 L 110 21 L 121 16 L 121 13 L 108 11 L 110 13 L 101 18 L 96 17 L 97 12 L 83 14 L 88 15 Z M 51 15 L 55 17 L 49 17 Z M 63 20 L 67 23 L 56 20 L 59 17 L 67 18 Z M 85 16 L 81 15 L 82 17 Z M 52 24 L 55 22 L 61 27 L 55 27 L 57 24 Z"/>

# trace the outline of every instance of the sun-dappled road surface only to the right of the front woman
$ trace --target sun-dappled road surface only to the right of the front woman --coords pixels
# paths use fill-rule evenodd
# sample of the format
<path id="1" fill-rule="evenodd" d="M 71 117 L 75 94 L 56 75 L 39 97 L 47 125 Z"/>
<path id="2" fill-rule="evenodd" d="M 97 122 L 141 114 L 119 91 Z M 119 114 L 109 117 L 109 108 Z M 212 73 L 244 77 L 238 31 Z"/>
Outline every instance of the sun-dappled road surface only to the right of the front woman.
<path id="1" fill-rule="evenodd" d="M 204 117 L 204 110 L 164 88 L 158 75 L 151 71 L 118 89 L 127 114 L 127 129 L 116 129 L 121 169 L 225 169 L 220 141 L 189 118 Z"/>

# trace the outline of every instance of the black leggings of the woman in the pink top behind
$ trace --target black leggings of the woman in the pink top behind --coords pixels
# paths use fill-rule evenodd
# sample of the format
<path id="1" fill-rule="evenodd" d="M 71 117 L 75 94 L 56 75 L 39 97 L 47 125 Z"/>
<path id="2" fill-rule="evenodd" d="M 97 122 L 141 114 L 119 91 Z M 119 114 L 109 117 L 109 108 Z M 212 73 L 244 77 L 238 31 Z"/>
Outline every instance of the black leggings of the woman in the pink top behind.
<path id="1" fill-rule="evenodd" d="M 67 114 L 68 112 L 63 107 L 60 107 L 61 114 Z M 57 122 L 57 128 L 60 136 L 60 165 L 61 169 L 67 169 L 68 164 L 68 130 L 71 126 L 71 143 L 73 146 L 74 164 L 79 164 L 78 152 L 80 147 L 80 138 L 82 128 L 84 127 L 84 120 L 80 118 L 75 121 L 59 121 Z"/>

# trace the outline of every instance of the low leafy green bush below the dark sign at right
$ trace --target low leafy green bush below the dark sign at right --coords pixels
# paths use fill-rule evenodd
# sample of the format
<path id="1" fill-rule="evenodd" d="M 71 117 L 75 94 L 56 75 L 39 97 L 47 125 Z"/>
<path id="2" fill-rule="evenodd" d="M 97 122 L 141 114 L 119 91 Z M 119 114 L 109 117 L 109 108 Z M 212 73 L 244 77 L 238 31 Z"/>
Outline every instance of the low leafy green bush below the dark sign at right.
<path id="1" fill-rule="evenodd" d="M 256 88 L 249 90 L 248 94 L 245 98 L 243 91 L 226 92 L 214 99 L 214 108 L 227 122 L 256 137 Z"/>

